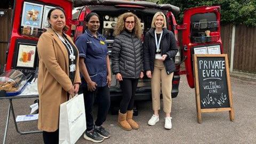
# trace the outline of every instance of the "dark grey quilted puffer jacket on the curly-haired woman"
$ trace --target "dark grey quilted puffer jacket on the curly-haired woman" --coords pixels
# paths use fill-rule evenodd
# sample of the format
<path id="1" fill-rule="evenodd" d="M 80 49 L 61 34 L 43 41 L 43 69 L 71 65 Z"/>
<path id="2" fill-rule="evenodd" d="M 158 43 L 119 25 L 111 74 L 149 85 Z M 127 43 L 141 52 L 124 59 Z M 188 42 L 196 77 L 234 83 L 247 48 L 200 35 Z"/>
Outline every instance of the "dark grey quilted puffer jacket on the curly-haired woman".
<path id="1" fill-rule="evenodd" d="M 139 78 L 143 71 L 143 47 L 140 39 L 125 30 L 117 35 L 111 51 L 112 72 L 123 78 Z"/>

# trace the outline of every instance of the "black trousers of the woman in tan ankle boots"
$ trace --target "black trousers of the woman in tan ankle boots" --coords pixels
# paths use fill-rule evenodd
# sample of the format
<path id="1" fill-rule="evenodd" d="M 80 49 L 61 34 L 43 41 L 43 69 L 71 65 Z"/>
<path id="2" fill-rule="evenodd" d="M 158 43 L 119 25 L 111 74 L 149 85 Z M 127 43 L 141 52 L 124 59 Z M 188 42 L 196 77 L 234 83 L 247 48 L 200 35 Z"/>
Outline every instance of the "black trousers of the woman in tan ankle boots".
<path id="1" fill-rule="evenodd" d="M 139 79 L 123 78 L 120 86 L 123 98 L 120 103 L 120 113 L 125 114 L 127 110 L 133 109 L 134 95 L 137 89 Z"/>

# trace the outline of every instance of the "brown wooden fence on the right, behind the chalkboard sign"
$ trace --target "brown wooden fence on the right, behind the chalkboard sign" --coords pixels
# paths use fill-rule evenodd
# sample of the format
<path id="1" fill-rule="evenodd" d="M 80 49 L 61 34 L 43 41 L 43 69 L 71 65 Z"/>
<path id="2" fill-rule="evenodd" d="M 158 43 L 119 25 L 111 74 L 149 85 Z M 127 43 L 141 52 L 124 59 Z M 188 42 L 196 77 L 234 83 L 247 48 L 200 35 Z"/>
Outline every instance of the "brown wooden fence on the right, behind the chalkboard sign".
<path id="1" fill-rule="evenodd" d="M 225 53 L 231 59 L 233 25 L 221 26 L 221 39 Z M 233 69 L 256 73 L 256 27 L 235 26 Z"/>

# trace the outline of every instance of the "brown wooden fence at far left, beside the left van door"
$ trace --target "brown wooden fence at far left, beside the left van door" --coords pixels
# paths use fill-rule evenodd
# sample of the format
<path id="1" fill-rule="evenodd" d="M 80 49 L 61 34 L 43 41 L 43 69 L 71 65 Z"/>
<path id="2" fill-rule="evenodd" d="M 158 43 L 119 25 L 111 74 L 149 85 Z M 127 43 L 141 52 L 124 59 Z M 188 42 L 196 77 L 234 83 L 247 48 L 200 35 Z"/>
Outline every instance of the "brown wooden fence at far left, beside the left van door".
<path id="1" fill-rule="evenodd" d="M 0 66 L 3 66 L 5 61 L 5 52 L 8 48 L 9 35 L 11 34 L 11 19 L 12 10 L 0 9 Z"/>

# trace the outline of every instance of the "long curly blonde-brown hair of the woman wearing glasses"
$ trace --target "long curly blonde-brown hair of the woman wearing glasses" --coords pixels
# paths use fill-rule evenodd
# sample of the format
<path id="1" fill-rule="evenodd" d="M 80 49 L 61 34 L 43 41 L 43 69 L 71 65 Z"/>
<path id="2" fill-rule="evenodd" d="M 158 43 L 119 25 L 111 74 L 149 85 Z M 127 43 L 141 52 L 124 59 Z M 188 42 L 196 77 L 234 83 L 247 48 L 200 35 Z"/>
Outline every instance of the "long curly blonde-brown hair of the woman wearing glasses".
<path id="1" fill-rule="evenodd" d="M 131 13 L 131 12 L 126 12 L 121 15 L 119 15 L 118 20 L 116 22 L 116 26 L 114 28 L 114 36 L 119 35 L 123 30 L 125 30 L 125 20 L 128 17 L 133 17 L 134 18 L 134 28 L 133 28 L 133 33 L 135 34 L 136 37 L 139 39 L 141 38 L 142 35 L 142 29 L 141 29 L 141 23 L 137 15 Z"/>

